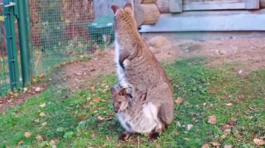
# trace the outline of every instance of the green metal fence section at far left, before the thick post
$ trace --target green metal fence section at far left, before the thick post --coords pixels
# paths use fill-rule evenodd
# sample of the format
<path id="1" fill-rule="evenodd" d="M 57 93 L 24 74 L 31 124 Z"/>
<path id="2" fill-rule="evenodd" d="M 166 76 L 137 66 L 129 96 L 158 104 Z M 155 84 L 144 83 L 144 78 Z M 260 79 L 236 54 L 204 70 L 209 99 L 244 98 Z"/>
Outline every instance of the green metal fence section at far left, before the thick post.
<path id="1" fill-rule="evenodd" d="M 0 96 L 9 90 L 20 87 L 20 71 L 17 60 L 17 42 L 15 34 L 16 1 L 3 0 L 1 13 L 1 56 L 0 56 Z"/>

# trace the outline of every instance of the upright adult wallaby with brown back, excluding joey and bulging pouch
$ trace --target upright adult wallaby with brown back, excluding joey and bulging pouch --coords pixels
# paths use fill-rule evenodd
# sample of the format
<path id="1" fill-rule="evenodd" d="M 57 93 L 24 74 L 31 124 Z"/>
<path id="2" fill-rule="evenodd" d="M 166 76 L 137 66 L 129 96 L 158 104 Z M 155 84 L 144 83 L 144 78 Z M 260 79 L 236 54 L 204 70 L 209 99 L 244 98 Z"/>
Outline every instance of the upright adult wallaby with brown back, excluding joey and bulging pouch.
<path id="1" fill-rule="evenodd" d="M 146 104 L 158 108 L 158 125 L 153 138 L 158 137 L 173 120 L 174 102 L 167 75 L 137 31 L 132 5 L 112 6 L 115 15 L 115 52 L 118 81 L 130 83 L 135 92 L 146 92 Z"/>

